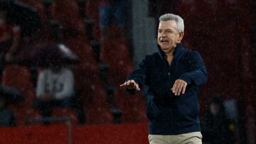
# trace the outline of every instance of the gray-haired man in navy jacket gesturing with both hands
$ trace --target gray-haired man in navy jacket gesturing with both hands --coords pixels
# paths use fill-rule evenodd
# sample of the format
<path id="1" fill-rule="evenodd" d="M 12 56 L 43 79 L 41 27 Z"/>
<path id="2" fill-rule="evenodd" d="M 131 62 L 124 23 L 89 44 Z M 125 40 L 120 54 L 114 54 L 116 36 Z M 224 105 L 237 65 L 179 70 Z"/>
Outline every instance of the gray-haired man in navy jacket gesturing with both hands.
<path id="1" fill-rule="evenodd" d="M 207 72 L 198 52 L 182 48 L 183 35 L 180 16 L 160 16 L 159 52 L 147 55 L 120 85 L 130 93 L 148 86 L 150 144 L 202 143 L 197 94 Z"/>

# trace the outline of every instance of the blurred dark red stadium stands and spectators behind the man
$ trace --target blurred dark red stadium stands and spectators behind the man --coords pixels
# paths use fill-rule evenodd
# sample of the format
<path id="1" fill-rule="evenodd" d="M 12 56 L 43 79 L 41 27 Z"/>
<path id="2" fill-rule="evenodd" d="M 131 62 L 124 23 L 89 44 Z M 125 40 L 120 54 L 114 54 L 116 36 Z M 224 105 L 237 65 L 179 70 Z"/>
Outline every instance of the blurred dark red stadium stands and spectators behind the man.
<path id="1" fill-rule="evenodd" d="M 164 13 L 208 69 L 203 143 L 256 143 L 256 1 L 0 0 L 1 143 L 148 143 L 146 96 L 119 84 Z"/>

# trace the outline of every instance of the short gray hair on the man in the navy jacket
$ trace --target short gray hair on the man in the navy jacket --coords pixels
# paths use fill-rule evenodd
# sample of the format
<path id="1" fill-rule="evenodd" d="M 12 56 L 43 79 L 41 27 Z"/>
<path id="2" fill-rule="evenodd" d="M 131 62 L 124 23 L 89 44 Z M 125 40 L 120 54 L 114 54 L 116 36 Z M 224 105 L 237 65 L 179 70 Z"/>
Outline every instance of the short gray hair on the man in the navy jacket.
<path id="1" fill-rule="evenodd" d="M 176 21 L 176 24 L 177 24 L 176 30 L 178 31 L 178 33 L 184 31 L 184 21 L 183 21 L 183 18 L 181 18 L 181 16 L 178 16 L 173 13 L 166 13 L 159 17 L 159 21 L 169 21 L 169 20 Z"/>

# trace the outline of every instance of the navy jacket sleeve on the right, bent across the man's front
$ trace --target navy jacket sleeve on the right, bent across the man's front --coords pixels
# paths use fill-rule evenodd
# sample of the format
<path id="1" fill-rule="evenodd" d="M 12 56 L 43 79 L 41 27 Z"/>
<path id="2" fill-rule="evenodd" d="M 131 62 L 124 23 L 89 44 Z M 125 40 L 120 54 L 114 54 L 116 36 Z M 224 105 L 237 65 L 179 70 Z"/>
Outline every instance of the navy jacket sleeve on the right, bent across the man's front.
<path id="1" fill-rule="evenodd" d="M 191 60 L 189 60 L 189 72 L 181 74 L 179 79 L 183 79 L 188 84 L 192 82 L 198 86 L 206 83 L 207 81 L 207 70 L 203 63 L 201 55 L 198 52 L 193 52 Z"/>

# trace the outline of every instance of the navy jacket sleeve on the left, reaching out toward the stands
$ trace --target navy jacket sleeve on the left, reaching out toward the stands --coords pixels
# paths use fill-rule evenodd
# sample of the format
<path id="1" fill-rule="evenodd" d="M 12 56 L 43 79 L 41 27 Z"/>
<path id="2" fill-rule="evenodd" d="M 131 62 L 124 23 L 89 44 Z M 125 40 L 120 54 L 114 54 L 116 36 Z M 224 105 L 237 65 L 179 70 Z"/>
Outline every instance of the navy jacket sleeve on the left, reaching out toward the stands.
<path id="1" fill-rule="evenodd" d="M 135 67 L 135 70 L 132 72 L 132 74 L 129 75 L 129 77 L 127 77 L 125 81 L 127 82 L 128 80 L 133 79 L 137 84 L 139 84 L 139 89 L 142 89 L 148 70 L 146 63 L 146 58 L 139 62 L 139 64 Z M 126 89 L 126 91 L 131 94 L 135 94 L 136 92 L 135 89 Z"/>

